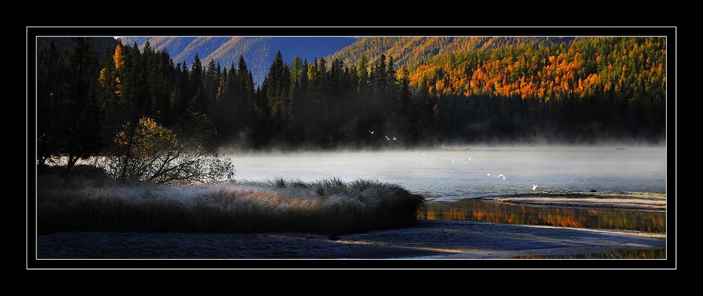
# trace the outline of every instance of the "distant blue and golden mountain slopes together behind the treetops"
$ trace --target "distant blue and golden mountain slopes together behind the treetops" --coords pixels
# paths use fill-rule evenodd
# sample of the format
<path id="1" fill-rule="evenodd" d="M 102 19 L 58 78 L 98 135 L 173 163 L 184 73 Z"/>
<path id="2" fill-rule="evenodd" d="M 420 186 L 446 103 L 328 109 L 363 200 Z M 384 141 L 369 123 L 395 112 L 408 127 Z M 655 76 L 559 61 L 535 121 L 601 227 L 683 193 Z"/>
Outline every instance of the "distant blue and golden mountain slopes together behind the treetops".
<path id="1" fill-rule="evenodd" d="M 244 56 L 255 84 L 261 84 L 276 52 L 285 63 L 298 55 L 312 63 L 315 59 L 340 60 L 343 65 L 358 65 L 361 56 L 366 62 L 380 55 L 392 57 L 396 68 L 413 70 L 423 60 L 450 53 L 495 49 L 517 44 L 551 45 L 573 37 L 120 37 L 125 46 L 143 50 L 147 42 L 153 51 L 166 50 L 174 63 L 191 65 L 198 58 L 214 60 L 221 67 L 237 63 Z M 370 67 L 370 65 L 367 65 Z"/>

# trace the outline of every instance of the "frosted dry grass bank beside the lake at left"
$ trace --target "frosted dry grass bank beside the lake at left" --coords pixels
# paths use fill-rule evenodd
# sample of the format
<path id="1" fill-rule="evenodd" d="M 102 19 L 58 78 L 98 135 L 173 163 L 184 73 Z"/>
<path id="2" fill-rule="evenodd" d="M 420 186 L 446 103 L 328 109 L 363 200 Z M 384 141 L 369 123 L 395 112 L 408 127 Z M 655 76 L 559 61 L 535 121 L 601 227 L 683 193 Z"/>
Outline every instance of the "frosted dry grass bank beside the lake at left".
<path id="1" fill-rule="evenodd" d="M 37 184 L 37 231 L 311 232 L 413 226 L 425 198 L 380 181 Z"/>

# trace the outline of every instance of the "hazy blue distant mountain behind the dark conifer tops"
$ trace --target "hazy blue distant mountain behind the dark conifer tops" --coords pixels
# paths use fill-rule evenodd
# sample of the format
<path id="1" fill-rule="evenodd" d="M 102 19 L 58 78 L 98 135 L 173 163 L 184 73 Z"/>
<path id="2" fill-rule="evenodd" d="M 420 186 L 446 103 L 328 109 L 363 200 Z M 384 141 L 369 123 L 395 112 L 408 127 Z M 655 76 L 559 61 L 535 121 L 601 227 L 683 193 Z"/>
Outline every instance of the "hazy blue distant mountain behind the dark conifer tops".
<path id="1" fill-rule="evenodd" d="M 191 65 L 195 54 L 204 63 L 214 60 L 221 67 L 237 64 L 243 56 L 254 83 L 261 84 L 269 66 L 280 51 L 290 63 L 296 55 L 311 62 L 328 56 L 356 41 L 356 37 L 120 37 L 122 44 L 141 50 L 149 44 L 154 51 L 166 50 L 174 63 Z"/>

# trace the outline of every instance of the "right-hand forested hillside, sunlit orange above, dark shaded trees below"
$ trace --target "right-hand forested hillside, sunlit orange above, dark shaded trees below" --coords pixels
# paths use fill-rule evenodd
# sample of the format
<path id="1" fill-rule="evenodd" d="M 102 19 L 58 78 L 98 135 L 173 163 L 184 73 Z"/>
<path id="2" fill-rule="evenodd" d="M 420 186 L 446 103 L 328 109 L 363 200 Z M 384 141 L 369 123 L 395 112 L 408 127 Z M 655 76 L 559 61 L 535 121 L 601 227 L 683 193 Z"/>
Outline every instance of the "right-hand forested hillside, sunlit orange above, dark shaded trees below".
<path id="1" fill-rule="evenodd" d="M 440 98 L 446 139 L 665 143 L 666 49 L 662 37 L 501 46 L 434 57 L 410 81 Z"/>

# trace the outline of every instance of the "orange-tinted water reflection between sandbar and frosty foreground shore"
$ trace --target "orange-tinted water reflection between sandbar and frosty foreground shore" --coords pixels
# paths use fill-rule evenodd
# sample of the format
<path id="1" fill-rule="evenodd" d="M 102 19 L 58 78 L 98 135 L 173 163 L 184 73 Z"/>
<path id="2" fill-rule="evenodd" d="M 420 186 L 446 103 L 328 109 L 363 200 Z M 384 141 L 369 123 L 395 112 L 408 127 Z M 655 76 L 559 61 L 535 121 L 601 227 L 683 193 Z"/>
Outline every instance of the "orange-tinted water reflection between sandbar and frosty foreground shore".
<path id="1" fill-rule="evenodd" d="M 430 202 L 420 219 L 666 232 L 666 212 L 533 207 L 473 198 Z"/>

